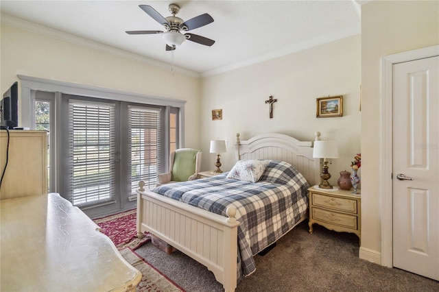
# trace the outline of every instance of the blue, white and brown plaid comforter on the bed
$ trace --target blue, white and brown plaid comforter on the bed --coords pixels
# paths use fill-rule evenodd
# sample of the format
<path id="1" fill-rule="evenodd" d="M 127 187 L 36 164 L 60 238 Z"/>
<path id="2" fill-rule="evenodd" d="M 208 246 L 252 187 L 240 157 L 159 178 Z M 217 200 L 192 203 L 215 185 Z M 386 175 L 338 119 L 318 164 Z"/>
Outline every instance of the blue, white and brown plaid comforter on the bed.
<path id="1" fill-rule="evenodd" d="M 281 238 L 305 214 L 307 180 L 287 162 L 271 160 L 258 182 L 212 178 L 164 184 L 154 193 L 189 205 L 226 215 L 237 209 L 238 279 L 256 270 L 254 254 Z"/>

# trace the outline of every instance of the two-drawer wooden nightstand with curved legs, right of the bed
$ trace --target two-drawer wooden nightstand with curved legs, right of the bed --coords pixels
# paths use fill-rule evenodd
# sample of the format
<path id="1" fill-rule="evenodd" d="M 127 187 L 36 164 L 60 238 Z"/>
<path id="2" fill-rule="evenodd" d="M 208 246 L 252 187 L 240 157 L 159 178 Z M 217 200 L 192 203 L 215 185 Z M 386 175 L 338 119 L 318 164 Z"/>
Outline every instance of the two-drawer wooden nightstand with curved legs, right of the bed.
<path id="1" fill-rule="evenodd" d="M 361 197 L 352 191 L 325 190 L 311 186 L 309 191 L 309 233 L 313 223 L 337 232 L 357 234 L 361 243 Z"/>

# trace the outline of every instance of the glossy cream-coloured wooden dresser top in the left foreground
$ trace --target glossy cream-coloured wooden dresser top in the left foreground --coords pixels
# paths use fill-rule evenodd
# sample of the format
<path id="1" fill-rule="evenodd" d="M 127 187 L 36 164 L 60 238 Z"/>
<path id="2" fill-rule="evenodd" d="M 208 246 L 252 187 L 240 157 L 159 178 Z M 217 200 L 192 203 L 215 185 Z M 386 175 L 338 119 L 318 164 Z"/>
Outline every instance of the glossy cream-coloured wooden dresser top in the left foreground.
<path id="1" fill-rule="evenodd" d="M 136 291 L 141 273 L 56 193 L 0 200 L 0 291 Z"/>

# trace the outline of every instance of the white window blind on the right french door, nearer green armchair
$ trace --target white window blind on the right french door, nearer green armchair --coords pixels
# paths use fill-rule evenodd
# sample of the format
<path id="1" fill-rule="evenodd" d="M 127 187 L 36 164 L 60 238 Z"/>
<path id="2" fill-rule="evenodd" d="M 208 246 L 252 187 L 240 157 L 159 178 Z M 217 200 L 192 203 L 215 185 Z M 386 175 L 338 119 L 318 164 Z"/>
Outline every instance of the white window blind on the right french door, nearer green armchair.
<path id="1" fill-rule="evenodd" d="M 145 182 L 145 188 L 156 186 L 160 165 L 159 145 L 161 143 L 161 109 L 128 106 L 130 130 L 129 146 L 131 193 L 139 188 L 139 181 Z"/>

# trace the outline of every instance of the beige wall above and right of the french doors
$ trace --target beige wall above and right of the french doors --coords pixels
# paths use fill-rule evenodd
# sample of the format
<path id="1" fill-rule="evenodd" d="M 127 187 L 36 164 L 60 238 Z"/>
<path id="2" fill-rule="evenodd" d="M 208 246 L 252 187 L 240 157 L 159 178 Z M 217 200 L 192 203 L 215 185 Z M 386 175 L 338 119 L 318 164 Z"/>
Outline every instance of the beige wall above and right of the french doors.
<path id="1" fill-rule="evenodd" d="M 178 71 L 172 75 L 170 65 L 169 69 L 161 69 L 142 60 L 2 23 L 1 93 L 19 81 L 17 74 L 185 100 L 185 126 L 190 129 L 185 132 L 185 146 L 199 147 L 200 80 L 197 75 Z"/>

